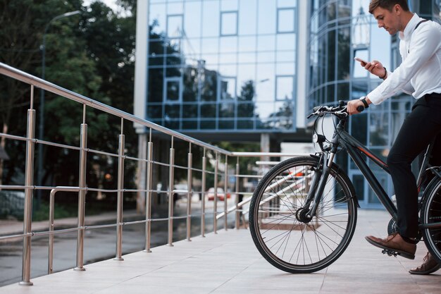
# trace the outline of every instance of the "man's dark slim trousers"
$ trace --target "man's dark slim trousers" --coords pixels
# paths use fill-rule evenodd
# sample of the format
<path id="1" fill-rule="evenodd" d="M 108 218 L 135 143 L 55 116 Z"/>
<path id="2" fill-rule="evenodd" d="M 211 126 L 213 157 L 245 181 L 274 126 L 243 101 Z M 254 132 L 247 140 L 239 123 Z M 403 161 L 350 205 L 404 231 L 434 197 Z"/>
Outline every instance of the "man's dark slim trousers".
<path id="1" fill-rule="evenodd" d="M 407 238 L 418 233 L 418 192 L 411 163 L 436 138 L 430 164 L 441 165 L 440 132 L 441 94 L 426 94 L 415 102 L 387 156 L 397 197 L 398 232 Z"/>

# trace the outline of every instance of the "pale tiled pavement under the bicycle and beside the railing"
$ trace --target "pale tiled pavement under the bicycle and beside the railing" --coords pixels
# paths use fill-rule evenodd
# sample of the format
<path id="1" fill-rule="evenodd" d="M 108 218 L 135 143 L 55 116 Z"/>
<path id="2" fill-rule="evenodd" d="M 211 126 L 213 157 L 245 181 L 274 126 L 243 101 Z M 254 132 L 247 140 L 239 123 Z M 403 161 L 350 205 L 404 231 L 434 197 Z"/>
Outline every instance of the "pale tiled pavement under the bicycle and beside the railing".
<path id="1" fill-rule="evenodd" d="M 387 257 L 364 240 L 384 236 L 385 212 L 359 210 L 352 243 L 328 269 L 314 274 L 287 274 L 259 255 L 247 230 L 219 231 L 206 238 L 160 246 L 86 266 L 33 278 L 34 286 L 17 283 L 0 293 L 441 293 L 441 271 L 413 276 L 407 271 L 426 254 L 418 245 L 415 260 Z"/>

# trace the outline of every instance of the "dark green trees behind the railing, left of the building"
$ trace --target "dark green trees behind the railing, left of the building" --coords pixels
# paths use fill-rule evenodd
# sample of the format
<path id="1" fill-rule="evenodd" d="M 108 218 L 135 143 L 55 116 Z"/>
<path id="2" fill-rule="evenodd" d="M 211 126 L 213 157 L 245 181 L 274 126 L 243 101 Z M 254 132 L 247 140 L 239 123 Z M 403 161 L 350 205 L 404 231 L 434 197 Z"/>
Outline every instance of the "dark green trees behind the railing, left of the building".
<path id="1" fill-rule="evenodd" d="M 135 12 L 136 1 L 119 2 Z M 82 0 L 0 0 L 0 62 L 41 75 L 41 45 L 47 29 L 46 80 L 131 113 L 136 13 L 120 16 L 101 2 L 93 2 L 89 7 L 82 4 Z M 56 16 L 76 10 L 80 14 L 54 20 Z M 0 124 L 8 127 L 6 133 L 25 135 L 29 97 L 30 87 L 12 79 L 0 79 Z M 39 90 L 36 89 L 37 125 L 38 97 Z M 46 92 L 44 140 L 79 146 L 82 112 L 81 104 Z M 87 146 L 117 153 L 120 118 L 87 107 L 85 119 Z M 137 135 L 132 123 L 125 122 L 124 134 L 128 154 L 136 156 Z M 5 149 L 11 160 L 5 162 L 4 183 L 23 184 L 25 144 L 7 140 Z M 79 152 L 76 150 L 44 147 L 43 184 L 77 185 L 78 164 Z M 89 155 L 87 164 L 89 187 L 116 188 L 116 160 Z M 101 166 L 101 170 L 97 171 L 96 166 Z M 135 185 L 135 169 L 136 164 L 126 161 L 126 188 Z M 104 180 L 106 174 L 111 174 L 113 180 Z M 93 192 L 89 193 L 89 198 L 93 197 Z M 75 195 L 63 200 L 77 201 Z"/>

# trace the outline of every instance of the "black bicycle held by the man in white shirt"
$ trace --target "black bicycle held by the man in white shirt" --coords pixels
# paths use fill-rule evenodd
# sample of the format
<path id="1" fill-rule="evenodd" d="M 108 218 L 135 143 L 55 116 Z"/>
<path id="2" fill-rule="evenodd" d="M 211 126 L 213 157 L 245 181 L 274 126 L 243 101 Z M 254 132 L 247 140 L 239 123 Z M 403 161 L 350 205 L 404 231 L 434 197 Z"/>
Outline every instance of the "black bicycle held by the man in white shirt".
<path id="1" fill-rule="evenodd" d="M 359 109 L 363 111 L 363 108 Z M 381 187 L 364 156 L 389 172 L 387 164 L 344 130 L 349 120 L 346 104 L 318 106 L 309 115 L 335 117 L 332 140 L 314 132 L 321 152 L 287 159 L 261 179 L 249 208 L 249 228 L 254 243 L 273 266 L 294 274 L 319 271 L 335 262 L 346 250 L 355 231 L 356 193 L 346 173 L 334 163 L 345 150 L 363 173 L 392 219 L 387 233 L 397 231 L 397 208 Z M 441 173 L 430 166 L 428 145 L 418 175 L 420 234 L 430 253 L 441 262 Z M 425 180 L 431 179 L 430 183 Z M 383 250 L 388 255 L 398 252 Z"/>

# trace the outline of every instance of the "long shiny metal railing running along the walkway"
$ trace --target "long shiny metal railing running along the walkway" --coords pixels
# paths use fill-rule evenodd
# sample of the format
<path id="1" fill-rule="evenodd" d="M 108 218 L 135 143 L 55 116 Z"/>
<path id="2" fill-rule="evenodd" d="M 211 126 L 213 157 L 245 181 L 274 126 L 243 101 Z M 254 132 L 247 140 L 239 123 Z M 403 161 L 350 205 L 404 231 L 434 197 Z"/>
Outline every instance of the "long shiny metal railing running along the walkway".
<path id="1" fill-rule="evenodd" d="M 25 191 L 25 204 L 24 204 L 24 215 L 23 215 L 23 234 L 15 235 L 4 235 L 0 236 L 0 240 L 11 240 L 13 238 L 23 238 L 23 266 L 22 266 L 22 281 L 21 285 L 30 286 L 32 282 L 30 281 L 30 257 L 31 257 L 31 238 L 32 236 L 49 235 L 49 257 L 48 257 L 48 274 L 51 274 L 54 262 L 54 236 L 56 234 L 68 233 L 72 231 L 77 231 L 77 259 L 75 271 L 84 271 L 84 239 L 85 231 L 92 230 L 96 228 L 106 228 L 106 227 L 116 227 L 116 256 L 115 260 L 122 261 L 122 247 L 123 247 L 123 226 L 128 226 L 135 223 L 145 224 L 145 240 L 144 240 L 144 252 L 151 252 L 151 223 L 154 221 L 167 221 L 168 222 L 168 245 L 173 246 L 173 221 L 176 219 L 185 219 L 186 221 L 186 239 L 190 241 L 190 232 L 192 228 L 192 219 L 195 216 L 200 217 L 201 235 L 204 236 L 206 233 L 206 219 L 210 214 L 213 215 L 213 229 L 212 231 L 216 233 L 218 230 L 218 220 L 223 218 L 223 228 L 228 229 L 228 214 L 235 213 L 234 217 L 234 227 L 240 228 L 240 217 L 244 218 L 244 212 L 247 212 L 247 204 L 251 199 L 252 189 L 246 188 L 244 185 L 240 185 L 240 179 L 242 183 L 245 180 L 256 182 L 260 177 L 261 173 L 259 171 L 240 171 L 240 159 L 244 157 L 256 157 L 256 159 L 261 159 L 262 157 L 268 159 L 268 157 L 293 157 L 299 154 L 288 154 L 288 153 L 273 153 L 273 152 L 229 152 L 225 149 L 209 145 L 206 142 L 201 142 L 182 133 L 175 132 L 168 128 L 164 128 L 161 125 L 156 125 L 142 118 L 133 116 L 124 111 L 120 111 L 111 106 L 97 102 L 88 97 L 82 96 L 75 92 L 63 89 L 58 85 L 54 85 L 51 82 L 47 82 L 33 75 L 19 71 L 18 69 L 7 66 L 4 63 L 0 63 L 0 74 L 6 75 L 9 78 L 19 80 L 27 85 L 30 85 L 30 109 L 27 110 L 27 133 L 26 136 L 9 135 L 6 133 L 0 133 L 0 137 L 4 137 L 7 140 L 18 140 L 24 141 L 26 143 L 26 154 L 25 154 L 25 183 L 24 185 L 0 185 L 1 190 L 24 190 Z M 58 96 L 64 97 L 66 99 L 73 100 L 82 105 L 82 123 L 80 123 L 80 146 L 66 145 L 59 142 L 49 142 L 42 140 L 43 138 L 35 137 L 35 115 L 36 110 L 34 109 L 34 89 L 39 87 L 47 92 L 52 92 Z M 117 116 L 120 118 L 120 135 L 118 136 L 118 152 L 103 152 L 100 150 L 90 149 L 87 145 L 87 123 L 86 123 L 86 110 L 87 107 L 97 109 L 98 111 L 103 111 L 106 114 Z M 147 143 L 147 158 L 130 157 L 125 154 L 125 135 L 123 125 L 125 121 L 130 121 L 132 123 L 137 123 L 143 125 L 149 130 L 149 142 Z M 154 160 L 154 142 L 152 140 L 152 132 L 158 132 L 162 135 L 168 135 L 170 137 L 170 151 L 168 162 L 160 162 Z M 175 164 L 175 147 L 174 142 L 176 139 L 187 142 L 188 153 L 187 153 L 187 166 L 179 166 Z M 50 186 L 37 186 L 34 182 L 34 159 L 35 159 L 35 145 L 46 145 L 57 148 L 73 149 L 80 152 L 80 164 L 79 164 L 79 183 L 76 187 L 50 187 Z M 201 167 L 200 169 L 193 165 L 194 153 L 192 149 L 198 147 L 203 150 L 201 152 Z M 87 154 L 99 154 L 105 155 L 107 157 L 118 158 L 118 172 L 117 172 L 117 184 L 116 190 L 106 190 L 102 188 L 90 188 L 87 185 L 86 173 L 87 173 Z M 228 163 L 230 159 L 236 158 L 235 168 L 230 169 Z M 145 174 L 142 177 L 146 180 L 145 188 L 128 189 L 124 187 L 124 176 L 125 176 L 125 161 L 132 160 L 136 161 L 139 165 L 145 164 L 147 168 L 145 169 Z M 234 161 L 233 161 L 234 162 Z M 230 164 L 231 165 L 231 164 Z M 154 168 L 162 166 L 168 168 L 168 187 L 166 189 L 158 189 L 154 187 L 152 180 L 152 173 Z M 177 190 L 175 189 L 175 169 L 185 169 L 187 171 L 187 189 Z M 230 175 L 230 171 L 233 173 Z M 199 175 L 199 177 L 197 176 Z M 213 183 L 206 183 L 207 176 L 214 178 Z M 234 177 L 234 187 L 230 187 L 228 179 Z M 223 178 L 223 207 L 221 211 L 218 211 L 218 183 L 219 178 Z M 201 190 L 193 190 L 194 180 L 200 180 Z M 213 207 L 211 210 L 207 210 L 207 187 L 213 185 Z M 48 231 L 32 231 L 32 197 L 35 190 L 50 190 L 50 200 L 49 200 L 49 229 Z M 228 190 L 231 195 L 234 195 L 234 202 L 230 203 L 228 201 L 227 193 Z M 78 193 L 78 212 L 77 212 L 77 227 L 74 228 L 63 228 L 55 230 L 55 220 L 54 220 L 54 203 L 55 196 L 57 192 L 77 192 Z M 87 192 L 116 192 L 116 223 L 107 223 L 96 226 L 85 226 L 85 204 L 87 198 Z M 125 193 L 128 192 L 141 192 L 145 195 L 145 218 L 137 221 L 123 221 L 123 198 Z M 192 194 L 197 192 L 200 197 L 199 212 L 194 212 L 192 209 Z M 176 193 L 185 193 L 187 209 L 186 214 L 183 216 L 175 216 L 173 209 L 173 197 Z M 152 218 L 152 196 L 156 195 L 166 195 L 168 200 L 168 216 L 166 218 Z M 239 201 L 239 195 L 243 195 L 243 200 Z"/>

